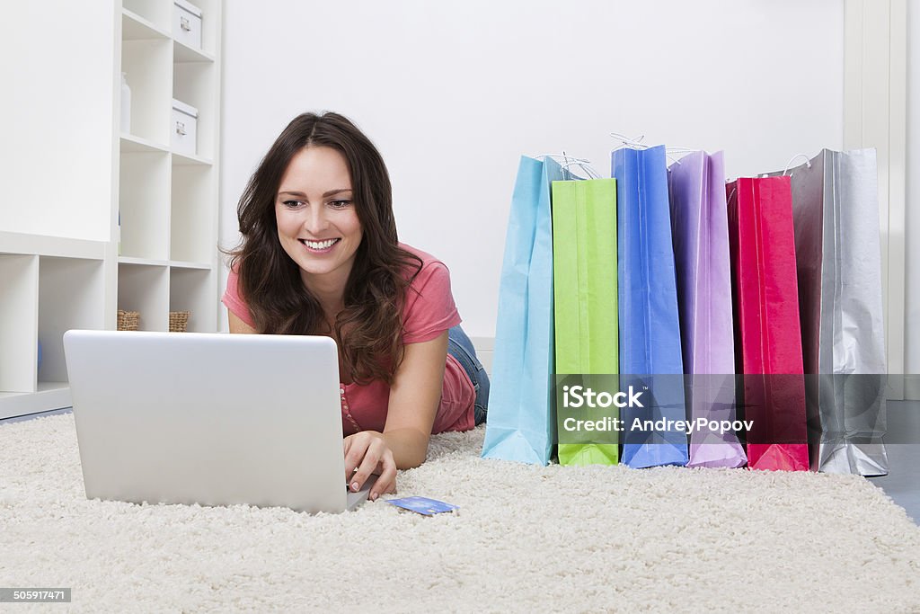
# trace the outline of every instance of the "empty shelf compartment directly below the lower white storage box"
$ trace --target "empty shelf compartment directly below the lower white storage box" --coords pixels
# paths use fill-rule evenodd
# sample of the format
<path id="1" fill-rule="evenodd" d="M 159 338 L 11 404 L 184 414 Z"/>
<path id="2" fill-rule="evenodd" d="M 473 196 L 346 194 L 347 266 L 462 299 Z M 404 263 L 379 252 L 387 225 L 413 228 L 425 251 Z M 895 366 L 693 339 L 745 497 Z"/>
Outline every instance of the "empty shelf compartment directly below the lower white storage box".
<path id="1" fill-rule="evenodd" d="M 172 168 L 169 257 L 174 261 L 213 262 L 217 257 L 217 228 L 207 204 L 215 199 L 212 167 L 176 165 Z"/>

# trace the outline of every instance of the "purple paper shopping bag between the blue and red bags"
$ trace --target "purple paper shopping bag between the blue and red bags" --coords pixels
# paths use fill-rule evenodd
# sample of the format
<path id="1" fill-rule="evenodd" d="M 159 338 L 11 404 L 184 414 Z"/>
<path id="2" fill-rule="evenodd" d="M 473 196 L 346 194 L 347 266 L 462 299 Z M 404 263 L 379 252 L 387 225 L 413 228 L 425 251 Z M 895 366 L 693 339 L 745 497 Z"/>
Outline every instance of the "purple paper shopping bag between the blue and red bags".
<path id="1" fill-rule="evenodd" d="M 735 423 L 729 221 L 722 153 L 697 151 L 668 168 L 677 304 L 690 433 L 688 467 L 743 467 Z"/>

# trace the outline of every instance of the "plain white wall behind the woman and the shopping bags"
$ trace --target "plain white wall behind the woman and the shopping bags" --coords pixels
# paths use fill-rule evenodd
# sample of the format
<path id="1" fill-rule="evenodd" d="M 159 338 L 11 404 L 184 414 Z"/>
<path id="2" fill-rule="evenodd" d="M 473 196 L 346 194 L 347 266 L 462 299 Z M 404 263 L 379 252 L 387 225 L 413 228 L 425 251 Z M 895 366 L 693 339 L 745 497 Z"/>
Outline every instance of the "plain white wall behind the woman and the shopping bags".
<path id="1" fill-rule="evenodd" d="M 467 332 L 495 331 L 519 156 L 609 176 L 610 132 L 724 149 L 730 175 L 843 141 L 842 0 L 228 2 L 222 243 L 293 116 L 337 110 L 383 153 L 400 238 L 452 272 Z"/>

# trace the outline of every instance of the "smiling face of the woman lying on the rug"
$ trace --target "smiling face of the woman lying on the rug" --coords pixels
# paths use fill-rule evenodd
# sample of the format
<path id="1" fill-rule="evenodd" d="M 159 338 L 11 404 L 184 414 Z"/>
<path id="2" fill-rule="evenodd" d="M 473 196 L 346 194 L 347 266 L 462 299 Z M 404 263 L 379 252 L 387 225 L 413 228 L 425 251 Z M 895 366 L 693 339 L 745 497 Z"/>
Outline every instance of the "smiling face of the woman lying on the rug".
<path id="1" fill-rule="evenodd" d="M 291 158 L 275 199 L 278 238 L 312 290 L 342 291 L 363 237 L 345 156 L 309 146 Z"/>

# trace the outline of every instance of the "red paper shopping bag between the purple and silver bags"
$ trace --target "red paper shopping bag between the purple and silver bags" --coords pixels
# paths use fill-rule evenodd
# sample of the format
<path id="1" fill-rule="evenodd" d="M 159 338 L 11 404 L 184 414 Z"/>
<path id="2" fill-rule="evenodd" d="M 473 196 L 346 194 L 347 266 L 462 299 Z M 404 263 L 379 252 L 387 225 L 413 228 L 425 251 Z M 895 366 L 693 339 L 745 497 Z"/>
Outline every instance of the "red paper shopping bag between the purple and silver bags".
<path id="1" fill-rule="evenodd" d="M 792 192 L 788 177 L 726 186 L 736 368 L 748 466 L 809 469 Z"/>

